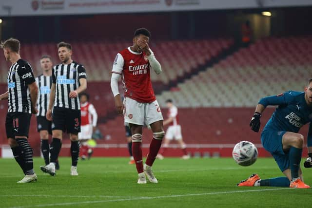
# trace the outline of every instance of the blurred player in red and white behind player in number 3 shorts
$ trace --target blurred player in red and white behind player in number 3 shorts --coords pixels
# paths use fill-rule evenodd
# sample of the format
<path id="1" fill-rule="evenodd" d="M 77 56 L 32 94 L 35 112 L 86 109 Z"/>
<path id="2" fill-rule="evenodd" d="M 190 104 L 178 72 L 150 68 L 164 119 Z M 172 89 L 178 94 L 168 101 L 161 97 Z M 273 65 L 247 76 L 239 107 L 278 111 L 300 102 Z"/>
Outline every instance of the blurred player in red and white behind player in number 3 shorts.
<path id="1" fill-rule="evenodd" d="M 81 110 L 81 132 L 78 133 L 80 141 L 80 157 L 85 160 L 88 156 L 90 159 L 93 153 L 92 148 L 88 146 L 88 140 L 92 138 L 92 133 L 95 131 L 98 122 L 98 114 L 94 106 L 89 103 L 89 95 L 86 93 L 80 94 L 80 110 Z"/>

